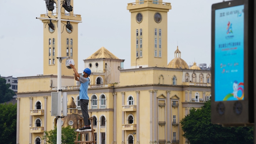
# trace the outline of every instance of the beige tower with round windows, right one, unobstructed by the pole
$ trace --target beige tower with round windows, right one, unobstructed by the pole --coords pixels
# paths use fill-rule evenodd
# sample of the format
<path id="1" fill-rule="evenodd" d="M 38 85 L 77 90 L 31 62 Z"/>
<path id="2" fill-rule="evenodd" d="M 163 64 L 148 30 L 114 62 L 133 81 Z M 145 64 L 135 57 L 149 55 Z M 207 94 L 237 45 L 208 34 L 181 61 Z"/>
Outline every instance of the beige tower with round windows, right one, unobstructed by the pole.
<path id="1" fill-rule="evenodd" d="M 131 13 L 131 68 L 167 67 L 167 12 L 162 0 L 136 0 Z"/>

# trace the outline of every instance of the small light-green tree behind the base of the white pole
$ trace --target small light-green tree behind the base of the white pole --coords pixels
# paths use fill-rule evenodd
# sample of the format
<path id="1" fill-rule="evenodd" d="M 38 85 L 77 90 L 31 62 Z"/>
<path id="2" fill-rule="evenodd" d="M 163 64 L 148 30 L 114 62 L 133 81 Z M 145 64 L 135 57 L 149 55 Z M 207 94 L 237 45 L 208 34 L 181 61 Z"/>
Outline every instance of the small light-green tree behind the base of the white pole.
<path id="1" fill-rule="evenodd" d="M 48 144 L 57 144 L 57 127 L 54 127 L 53 130 L 45 131 L 43 139 L 46 140 Z M 75 129 L 72 129 L 70 126 L 61 127 L 61 144 L 74 144 L 75 140 Z"/>

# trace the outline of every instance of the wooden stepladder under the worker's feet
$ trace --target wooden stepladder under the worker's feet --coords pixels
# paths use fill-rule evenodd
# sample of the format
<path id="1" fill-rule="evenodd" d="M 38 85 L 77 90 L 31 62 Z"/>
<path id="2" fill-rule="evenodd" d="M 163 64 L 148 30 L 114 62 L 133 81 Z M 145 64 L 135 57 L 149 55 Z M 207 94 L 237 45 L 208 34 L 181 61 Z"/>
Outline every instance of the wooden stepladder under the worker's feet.
<path id="1" fill-rule="evenodd" d="M 93 117 L 88 118 L 88 120 L 91 120 L 91 131 L 77 132 L 75 144 L 96 144 L 95 137 L 94 137 L 94 131 L 95 131 L 95 129 L 93 129 Z M 82 127 L 83 127 L 82 121 L 83 121 L 83 118 L 80 117 L 80 118 L 79 118 L 79 126 L 78 126 L 79 128 L 82 128 Z M 84 124 L 84 123 L 83 123 L 83 124 Z M 85 135 L 84 135 L 84 138 L 82 138 L 82 135 L 83 135 L 83 134 L 87 134 L 87 133 L 88 133 L 88 134 L 91 133 L 91 140 L 89 140 L 89 141 L 86 141 L 86 140 L 85 140 Z M 80 140 L 78 140 L 79 134 L 80 134 Z"/>

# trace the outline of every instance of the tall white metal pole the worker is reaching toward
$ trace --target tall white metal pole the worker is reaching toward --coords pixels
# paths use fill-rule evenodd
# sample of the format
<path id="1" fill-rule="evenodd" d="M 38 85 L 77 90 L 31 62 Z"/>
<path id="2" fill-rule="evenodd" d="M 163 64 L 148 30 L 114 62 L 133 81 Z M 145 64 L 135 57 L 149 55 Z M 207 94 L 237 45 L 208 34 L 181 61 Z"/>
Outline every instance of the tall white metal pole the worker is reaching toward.
<path id="1" fill-rule="evenodd" d="M 58 48 L 57 48 L 57 53 L 58 53 L 58 57 L 61 57 L 61 5 L 60 5 L 61 1 L 58 0 L 58 22 L 57 22 L 57 26 L 58 26 Z M 61 62 L 58 60 L 58 91 L 59 91 L 59 102 L 58 102 L 58 115 L 61 116 Z M 57 144 L 61 144 L 61 118 L 57 119 Z"/>

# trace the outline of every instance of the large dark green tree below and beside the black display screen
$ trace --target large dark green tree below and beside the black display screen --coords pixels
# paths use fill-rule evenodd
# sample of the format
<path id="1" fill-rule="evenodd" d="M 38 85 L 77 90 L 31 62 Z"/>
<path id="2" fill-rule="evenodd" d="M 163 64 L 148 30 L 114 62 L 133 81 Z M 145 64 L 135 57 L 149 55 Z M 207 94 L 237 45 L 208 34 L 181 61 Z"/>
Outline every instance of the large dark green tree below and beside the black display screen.
<path id="1" fill-rule="evenodd" d="M 181 120 L 183 136 L 190 144 L 253 144 L 253 127 L 223 127 L 211 124 L 211 102 L 191 109 Z"/>

